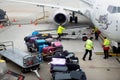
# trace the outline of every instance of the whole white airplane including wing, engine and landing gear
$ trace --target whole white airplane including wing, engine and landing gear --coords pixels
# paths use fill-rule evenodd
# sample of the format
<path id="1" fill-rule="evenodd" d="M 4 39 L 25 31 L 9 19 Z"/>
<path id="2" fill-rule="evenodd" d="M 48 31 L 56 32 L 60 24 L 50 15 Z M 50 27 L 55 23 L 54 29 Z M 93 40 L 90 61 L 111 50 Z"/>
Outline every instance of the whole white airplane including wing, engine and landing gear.
<path id="1" fill-rule="evenodd" d="M 74 6 L 60 6 L 55 4 L 45 4 L 39 2 L 9 0 L 16 2 L 23 2 L 34 4 L 42 7 L 58 8 L 59 10 L 54 15 L 54 21 L 57 24 L 65 24 L 68 21 L 65 11 L 69 10 L 82 14 L 88 17 L 95 27 L 97 27 L 103 34 L 109 37 L 111 40 L 120 43 L 120 0 L 77 0 L 82 1 L 89 7 L 75 8 Z M 75 0 L 74 0 L 75 1 Z M 73 3 L 76 4 L 76 3 Z M 77 17 L 71 16 L 70 22 L 75 21 L 77 23 Z M 117 45 L 118 46 L 118 45 Z M 117 47 L 116 46 L 116 47 Z"/>

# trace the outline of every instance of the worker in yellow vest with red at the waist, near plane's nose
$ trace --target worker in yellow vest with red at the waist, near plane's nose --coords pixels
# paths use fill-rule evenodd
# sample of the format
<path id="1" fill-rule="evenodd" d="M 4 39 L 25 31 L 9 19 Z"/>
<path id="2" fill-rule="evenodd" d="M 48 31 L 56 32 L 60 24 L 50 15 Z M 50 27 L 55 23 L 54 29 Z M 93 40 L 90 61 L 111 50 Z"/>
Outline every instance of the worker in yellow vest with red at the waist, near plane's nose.
<path id="1" fill-rule="evenodd" d="M 103 41 L 104 59 L 108 59 L 109 49 L 110 49 L 110 41 L 106 37 L 104 37 L 104 41 Z"/>

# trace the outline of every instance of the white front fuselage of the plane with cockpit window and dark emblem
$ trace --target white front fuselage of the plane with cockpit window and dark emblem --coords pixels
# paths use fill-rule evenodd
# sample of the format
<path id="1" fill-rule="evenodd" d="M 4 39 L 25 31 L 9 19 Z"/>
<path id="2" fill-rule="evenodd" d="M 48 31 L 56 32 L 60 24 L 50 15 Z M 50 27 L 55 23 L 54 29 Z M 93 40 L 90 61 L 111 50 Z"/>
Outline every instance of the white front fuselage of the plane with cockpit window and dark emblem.
<path id="1" fill-rule="evenodd" d="M 120 3 L 118 4 L 117 1 L 114 3 L 112 1 L 108 3 L 96 2 L 91 11 L 90 19 L 105 36 L 120 42 Z"/>

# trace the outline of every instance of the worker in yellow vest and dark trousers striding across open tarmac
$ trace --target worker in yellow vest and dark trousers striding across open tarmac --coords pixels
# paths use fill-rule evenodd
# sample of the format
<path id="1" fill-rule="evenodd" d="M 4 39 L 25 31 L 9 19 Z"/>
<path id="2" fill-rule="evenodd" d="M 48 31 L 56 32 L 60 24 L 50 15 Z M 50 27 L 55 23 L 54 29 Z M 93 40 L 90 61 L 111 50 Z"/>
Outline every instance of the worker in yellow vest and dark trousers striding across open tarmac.
<path id="1" fill-rule="evenodd" d="M 86 55 L 89 52 L 89 60 L 92 60 L 92 49 L 93 49 L 93 37 L 90 37 L 89 39 L 87 39 L 87 41 L 85 42 L 85 54 L 83 56 L 83 60 L 85 61 Z"/>

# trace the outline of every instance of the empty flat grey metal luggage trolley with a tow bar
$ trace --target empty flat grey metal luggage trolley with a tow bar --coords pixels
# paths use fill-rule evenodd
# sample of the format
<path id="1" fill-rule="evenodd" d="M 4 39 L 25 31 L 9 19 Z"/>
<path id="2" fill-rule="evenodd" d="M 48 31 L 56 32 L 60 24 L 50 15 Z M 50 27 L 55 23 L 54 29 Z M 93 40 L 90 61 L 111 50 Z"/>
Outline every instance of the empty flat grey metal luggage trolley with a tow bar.
<path id="1" fill-rule="evenodd" d="M 33 71 L 40 79 L 37 70 L 42 62 L 41 54 L 30 55 L 14 48 L 13 41 L 7 41 L 0 43 L 0 55 L 20 66 L 23 73 Z"/>

